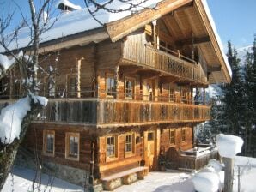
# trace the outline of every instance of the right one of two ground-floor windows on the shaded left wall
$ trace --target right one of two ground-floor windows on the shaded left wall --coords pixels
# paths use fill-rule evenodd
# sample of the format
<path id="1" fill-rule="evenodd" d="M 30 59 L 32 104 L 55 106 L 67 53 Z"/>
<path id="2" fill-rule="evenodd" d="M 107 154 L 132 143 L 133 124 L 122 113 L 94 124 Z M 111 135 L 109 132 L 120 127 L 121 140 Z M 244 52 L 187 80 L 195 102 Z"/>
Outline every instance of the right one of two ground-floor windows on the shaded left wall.
<path id="1" fill-rule="evenodd" d="M 66 158 L 79 159 L 79 134 L 66 133 Z"/>

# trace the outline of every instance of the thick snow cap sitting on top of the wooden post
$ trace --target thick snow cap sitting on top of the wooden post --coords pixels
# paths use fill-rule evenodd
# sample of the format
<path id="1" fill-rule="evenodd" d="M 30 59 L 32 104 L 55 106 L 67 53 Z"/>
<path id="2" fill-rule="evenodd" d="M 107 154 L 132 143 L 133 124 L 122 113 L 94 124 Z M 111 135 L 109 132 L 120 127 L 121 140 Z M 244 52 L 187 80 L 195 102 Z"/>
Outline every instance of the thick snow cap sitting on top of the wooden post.
<path id="1" fill-rule="evenodd" d="M 222 157 L 235 158 L 237 153 L 241 152 L 243 140 L 235 135 L 216 135 L 216 147 Z"/>

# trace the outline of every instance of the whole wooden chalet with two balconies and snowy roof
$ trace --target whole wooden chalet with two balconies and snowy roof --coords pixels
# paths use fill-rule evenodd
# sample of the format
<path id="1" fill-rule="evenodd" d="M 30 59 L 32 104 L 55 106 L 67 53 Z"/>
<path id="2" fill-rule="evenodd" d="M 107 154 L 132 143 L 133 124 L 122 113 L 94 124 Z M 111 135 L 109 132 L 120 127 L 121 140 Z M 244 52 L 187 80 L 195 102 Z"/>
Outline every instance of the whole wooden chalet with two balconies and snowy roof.
<path id="1" fill-rule="evenodd" d="M 68 7 L 67 7 L 68 6 Z M 192 171 L 216 158 L 193 128 L 210 120 L 205 91 L 229 83 L 229 63 L 204 0 L 149 1 L 132 13 L 59 5 L 64 14 L 40 44 L 40 95 L 48 105 L 23 147 L 56 177 L 112 190 L 148 171 Z M 68 10 L 68 11 L 67 11 Z M 13 69 L 2 103 L 24 95 Z M 36 147 L 36 148 L 35 148 Z"/>

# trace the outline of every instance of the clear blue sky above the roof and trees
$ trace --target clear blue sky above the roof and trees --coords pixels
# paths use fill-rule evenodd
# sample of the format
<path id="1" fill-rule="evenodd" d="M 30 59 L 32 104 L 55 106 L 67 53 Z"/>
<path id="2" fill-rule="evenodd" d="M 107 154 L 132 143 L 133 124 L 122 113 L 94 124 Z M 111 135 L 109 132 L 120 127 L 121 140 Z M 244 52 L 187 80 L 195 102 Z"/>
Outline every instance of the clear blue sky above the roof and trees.
<path id="1" fill-rule="evenodd" d="M 24 13 L 28 14 L 27 0 L 0 0 L 1 15 L 3 8 L 7 13 L 9 4 L 11 4 L 10 9 L 15 7 L 14 1 L 20 4 Z M 70 1 L 84 7 L 83 0 Z M 256 33 L 256 0 L 207 0 L 207 2 L 224 47 L 227 46 L 228 40 L 231 40 L 236 48 L 252 44 L 253 34 Z M 15 19 L 14 25 L 18 20 Z"/>

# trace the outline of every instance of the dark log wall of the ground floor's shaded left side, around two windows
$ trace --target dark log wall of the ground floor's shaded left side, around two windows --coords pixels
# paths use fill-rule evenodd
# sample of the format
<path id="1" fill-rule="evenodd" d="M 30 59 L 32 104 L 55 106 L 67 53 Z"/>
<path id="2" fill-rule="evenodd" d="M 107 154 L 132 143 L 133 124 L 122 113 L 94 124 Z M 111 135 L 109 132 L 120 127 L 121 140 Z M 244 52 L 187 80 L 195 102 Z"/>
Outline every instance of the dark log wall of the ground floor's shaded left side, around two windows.
<path id="1" fill-rule="evenodd" d="M 54 156 L 43 155 L 43 130 L 51 130 L 55 132 L 55 149 Z M 79 134 L 79 160 L 72 160 L 65 158 L 66 150 L 66 133 L 78 133 Z M 89 171 L 90 159 L 91 159 L 91 140 L 92 137 L 88 130 L 85 130 L 83 126 L 72 126 L 67 124 L 50 124 L 50 123 L 33 123 L 27 130 L 27 135 L 22 142 L 23 147 L 27 147 L 34 152 L 38 151 L 42 154 L 43 161 L 52 161 L 61 165 L 69 165 L 75 168 Z M 36 147 L 36 148 L 35 148 Z"/>

